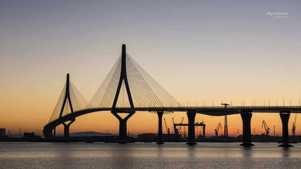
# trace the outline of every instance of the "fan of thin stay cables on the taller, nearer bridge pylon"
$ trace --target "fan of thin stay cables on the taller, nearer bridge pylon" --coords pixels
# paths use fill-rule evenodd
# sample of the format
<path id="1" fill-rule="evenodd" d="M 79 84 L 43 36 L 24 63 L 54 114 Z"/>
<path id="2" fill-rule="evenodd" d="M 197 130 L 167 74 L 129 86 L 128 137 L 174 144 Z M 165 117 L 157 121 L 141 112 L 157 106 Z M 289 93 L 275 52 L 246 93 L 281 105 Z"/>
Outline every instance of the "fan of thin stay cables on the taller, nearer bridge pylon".
<path id="1" fill-rule="evenodd" d="M 121 72 L 121 56 L 92 97 L 87 108 L 112 107 Z M 179 107 L 180 104 L 126 54 L 126 75 L 134 107 Z M 122 82 L 116 107 L 130 107 Z"/>

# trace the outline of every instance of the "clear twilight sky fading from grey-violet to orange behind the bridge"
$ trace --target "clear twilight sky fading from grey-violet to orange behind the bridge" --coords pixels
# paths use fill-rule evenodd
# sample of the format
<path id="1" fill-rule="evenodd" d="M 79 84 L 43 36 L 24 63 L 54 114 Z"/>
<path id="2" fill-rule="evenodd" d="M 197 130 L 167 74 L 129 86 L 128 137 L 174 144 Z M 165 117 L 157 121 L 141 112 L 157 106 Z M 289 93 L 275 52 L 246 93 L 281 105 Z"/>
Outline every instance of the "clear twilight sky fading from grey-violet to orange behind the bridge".
<path id="1" fill-rule="evenodd" d="M 215 106 L 299 106 L 300 1 L 14 1 L 0 0 L 0 128 L 42 134 L 70 73 L 89 101 L 122 44 L 127 53 L 178 102 Z M 268 12 L 286 12 L 275 18 Z M 182 103 L 183 104 L 183 103 Z M 289 134 L 295 114 L 291 114 Z M 184 112 L 163 115 L 169 127 Z M 224 117 L 197 114 L 206 135 Z M 296 134 L 301 135 L 301 115 Z M 282 135 L 277 113 L 253 113 L 251 127 Z M 158 128 L 157 115 L 136 112 L 133 134 Z M 228 116 L 229 136 L 242 134 L 240 115 Z M 76 118 L 70 132 L 118 133 L 110 112 Z M 186 128 L 187 130 L 187 128 Z M 163 124 L 163 133 L 166 133 Z M 15 134 L 15 133 L 12 133 Z M 57 127 L 63 134 L 63 126 Z M 253 131 L 252 131 L 253 134 Z"/>

